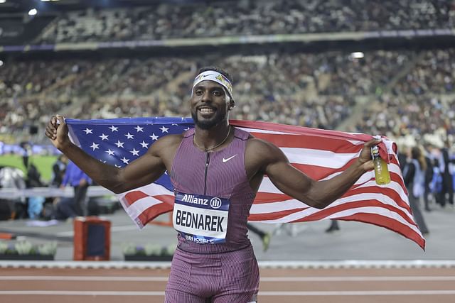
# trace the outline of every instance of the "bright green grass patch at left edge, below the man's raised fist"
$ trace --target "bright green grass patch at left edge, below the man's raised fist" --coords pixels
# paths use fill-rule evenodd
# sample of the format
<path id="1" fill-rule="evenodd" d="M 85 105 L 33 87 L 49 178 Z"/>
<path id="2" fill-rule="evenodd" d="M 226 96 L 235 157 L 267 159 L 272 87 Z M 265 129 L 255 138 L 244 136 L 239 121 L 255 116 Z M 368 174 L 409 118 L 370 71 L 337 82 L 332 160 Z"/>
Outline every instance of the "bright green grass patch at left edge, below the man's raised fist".
<path id="1" fill-rule="evenodd" d="M 28 162 L 36 165 L 43 181 L 49 182 L 50 177 L 52 177 L 52 165 L 55 160 L 57 160 L 55 155 L 32 155 L 28 159 Z M 26 168 L 23 166 L 21 155 L 1 155 L 0 166 L 18 167 L 26 174 Z"/>

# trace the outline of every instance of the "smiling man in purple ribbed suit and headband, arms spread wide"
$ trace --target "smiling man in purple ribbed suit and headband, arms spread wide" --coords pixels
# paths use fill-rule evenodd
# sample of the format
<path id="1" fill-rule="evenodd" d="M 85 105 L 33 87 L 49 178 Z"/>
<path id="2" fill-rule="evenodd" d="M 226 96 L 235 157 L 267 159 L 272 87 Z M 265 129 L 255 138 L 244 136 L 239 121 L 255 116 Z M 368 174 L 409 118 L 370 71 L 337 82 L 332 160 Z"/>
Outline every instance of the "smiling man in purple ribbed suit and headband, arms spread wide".
<path id="1" fill-rule="evenodd" d="M 53 116 L 46 136 L 95 182 L 126 192 L 168 172 L 176 199 L 178 231 L 166 286 L 166 302 L 256 302 L 259 270 L 247 238 L 247 218 L 264 175 L 285 194 L 322 209 L 373 170 L 365 143 L 358 160 L 331 180 L 316 182 L 289 164 L 277 146 L 229 124 L 235 106 L 230 75 L 217 67 L 199 71 L 190 99 L 195 128 L 160 138 L 123 168 L 103 164 L 68 139 L 62 116 Z"/>

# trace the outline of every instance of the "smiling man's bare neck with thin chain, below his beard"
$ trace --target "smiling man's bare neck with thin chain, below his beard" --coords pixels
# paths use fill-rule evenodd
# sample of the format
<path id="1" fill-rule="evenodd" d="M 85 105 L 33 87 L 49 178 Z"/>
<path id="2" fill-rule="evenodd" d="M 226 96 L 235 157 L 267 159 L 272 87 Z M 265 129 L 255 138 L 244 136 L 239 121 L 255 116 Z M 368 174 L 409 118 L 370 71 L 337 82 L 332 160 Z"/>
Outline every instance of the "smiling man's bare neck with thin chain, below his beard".
<path id="1" fill-rule="evenodd" d="M 228 121 L 210 129 L 202 129 L 196 126 L 193 143 L 201 150 L 214 150 L 228 141 L 231 132 Z"/>

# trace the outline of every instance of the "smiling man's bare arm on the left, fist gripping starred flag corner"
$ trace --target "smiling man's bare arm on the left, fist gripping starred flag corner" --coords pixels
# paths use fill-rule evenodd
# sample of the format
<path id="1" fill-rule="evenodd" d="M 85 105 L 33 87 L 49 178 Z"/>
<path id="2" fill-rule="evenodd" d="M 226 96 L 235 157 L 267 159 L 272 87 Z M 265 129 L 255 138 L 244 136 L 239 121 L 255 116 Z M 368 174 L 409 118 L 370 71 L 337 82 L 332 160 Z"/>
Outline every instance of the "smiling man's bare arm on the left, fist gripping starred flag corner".
<path id="1" fill-rule="evenodd" d="M 141 158 L 134 160 L 126 167 L 117 168 L 100 162 L 71 143 L 68 138 L 68 126 L 63 117 L 58 116 L 58 120 L 60 125 L 57 124 L 57 118 L 53 117 L 45 132 L 53 145 L 75 162 L 97 184 L 115 193 L 141 187 L 158 179 L 166 171 L 163 155 L 168 155 L 178 141 L 176 136 L 173 138 L 166 136 L 151 145 Z"/>

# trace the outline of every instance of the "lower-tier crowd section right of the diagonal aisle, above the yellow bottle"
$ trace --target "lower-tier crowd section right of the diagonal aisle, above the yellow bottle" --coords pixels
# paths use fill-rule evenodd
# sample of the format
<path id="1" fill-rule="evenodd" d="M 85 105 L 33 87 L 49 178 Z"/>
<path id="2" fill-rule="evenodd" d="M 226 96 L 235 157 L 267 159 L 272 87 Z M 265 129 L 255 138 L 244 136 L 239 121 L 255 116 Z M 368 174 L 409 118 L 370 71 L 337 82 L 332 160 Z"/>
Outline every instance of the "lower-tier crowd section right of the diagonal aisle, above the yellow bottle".
<path id="1" fill-rule="evenodd" d="M 437 134 L 441 142 L 454 136 L 454 55 L 454 49 L 419 53 L 417 62 L 390 92 L 375 96 L 373 106 L 365 106 L 354 131 L 414 138 Z"/>

